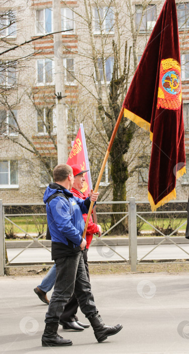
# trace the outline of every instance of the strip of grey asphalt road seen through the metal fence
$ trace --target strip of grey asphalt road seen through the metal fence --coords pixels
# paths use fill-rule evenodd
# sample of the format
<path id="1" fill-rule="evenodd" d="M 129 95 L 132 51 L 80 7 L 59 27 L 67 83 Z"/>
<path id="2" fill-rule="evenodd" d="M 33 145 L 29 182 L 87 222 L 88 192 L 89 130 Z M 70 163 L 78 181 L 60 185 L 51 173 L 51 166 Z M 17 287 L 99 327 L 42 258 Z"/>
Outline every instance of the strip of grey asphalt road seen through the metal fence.
<path id="1" fill-rule="evenodd" d="M 189 243 L 179 245 L 185 251 L 178 248 L 175 245 L 162 244 L 153 250 L 148 256 L 145 257 L 146 260 L 149 259 L 189 259 Z M 122 255 L 125 259 L 129 259 L 129 246 L 111 246 L 113 250 Z M 141 259 L 145 254 L 147 254 L 154 245 L 138 245 L 138 259 Z M 23 248 L 8 248 L 8 258 L 11 261 Z M 122 258 L 114 253 L 114 251 L 109 249 L 107 246 L 93 246 L 89 248 L 88 260 L 89 261 L 103 261 L 103 260 L 121 260 Z M 50 248 L 49 248 L 50 251 Z M 19 256 L 17 256 L 13 262 L 48 262 L 51 261 L 51 253 L 45 248 L 27 248 Z M 188 350 L 189 352 L 189 350 Z"/>

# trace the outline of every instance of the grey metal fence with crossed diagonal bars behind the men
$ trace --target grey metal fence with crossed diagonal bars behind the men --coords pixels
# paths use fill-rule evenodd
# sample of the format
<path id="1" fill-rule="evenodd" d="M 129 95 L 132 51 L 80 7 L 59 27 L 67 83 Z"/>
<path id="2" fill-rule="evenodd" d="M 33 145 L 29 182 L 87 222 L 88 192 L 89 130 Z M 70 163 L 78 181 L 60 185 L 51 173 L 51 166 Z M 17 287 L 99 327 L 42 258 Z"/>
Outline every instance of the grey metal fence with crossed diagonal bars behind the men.
<path id="1" fill-rule="evenodd" d="M 173 202 L 169 202 L 169 204 L 171 205 L 171 203 L 187 203 L 187 200 L 179 200 L 179 201 L 173 201 Z M 171 243 L 173 243 L 174 245 L 176 245 L 177 247 L 179 247 L 182 251 L 184 251 L 187 255 L 189 255 L 189 253 L 182 248 L 180 245 L 178 245 L 176 242 L 174 242 L 174 240 L 171 238 L 171 236 L 173 234 L 175 234 L 183 225 L 186 224 L 186 221 L 184 221 L 181 225 L 179 225 L 179 227 L 177 227 L 174 231 L 172 231 L 169 235 L 165 235 L 163 232 L 161 232 L 160 230 L 158 230 L 156 227 L 154 227 L 154 225 L 152 225 L 151 223 L 149 223 L 149 221 L 145 218 L 145 215 L 149 215 L 152 214 L 151 211 L 141 211 L 141 210 L 137 210 L 137 207 L 139 208 L 140 204 L 149 204 L 149 202 L 146 201 L 139 201 L 137 202 L 135 200 L 134 197 L 130 198 L 129 201 L 121 201 L 121 202 L 111 202 L 111 201 L 107 201 L 107 202 L 97 202 L 97 204 L 127 204 L 128 205 L 128 211 L 125 212 L 118 212 L 119 214 L 123 214 L 123 216 L 121 215 L 120 219 L 118 220 L 117 223 L 115 223 L 112 227 L 110 227 L 108 230 L 106 230 L 102 236 L 100 238 L 96 237 L 97 241 L 100 240 L 101 244 L 104 244 L 106 247 L 109 247 L 113 252 L 115 252 L 116 254 L 118 254 L 123 261 L 128 262 L 129 264 L 131 264 L 131 270 L 133 272 L 135 272 L 137 270 L 137 264 L 139 264 L 141 261 L 144 261 L 144 258 L 150 254 L 154 249 L 156 249 L 158 246 L 160 246 L 164 241 L 166 240 L 170 240 Z M 33 246 L 34 243 L 39 243 L 41 247 L 44 247 L 48 252 L 50 252 L 49 248 L 47 248 L 42 242 L 40 242 L 40 238 L 45 234 L 41 234 L 38 237 L 33 237 L 30 233 L 28 233 L 26 230 L 23 230 L 20 226 L 16 225 L 11 219 L 11 216 L 16 216 L 16 214 L 6 214 L 5 213 L 5 207 L 8 206 L 44 206 L 43 203 L 13 203 L 13 204 L 3 204 L 3 201 L 0 200 L 0 275 L 4 275 L 5 269 L 12 267 L 13 266 L 13 260 L 18 257 L 22 252 L 24 252 L 27 248 Z M 175 204 L 174 204 L 175 206 Z M 156 212 L 154 212 L 153 214 L 163 214 L 163 213 L 177 213 L 180 214 L 182 213 L 183 215 L 186 216 L 187 211 L 186 210 L 166 210 L 166 211 L 159 211 L 157 210 Z M 97 214 L 114 214 L 113 211 L 110 212 L 97 212 Z M 27 215 L 32 215 L 31 213 L 25 213 L 22 214 L 22 216 L 27 216 Z M 33 214 L 34 215 L 34 214 Z M 38 215 L 45 215 L 45 213 L 39 213 Z M 17 215 L 18 216 L 18 215 Z M 110 231 L 112 231 L 113 228 L 115 228 L 119 223 L 122 222 L 122 220 L 124 220 L 125 218 L 129 217 L 129 260 L 127 260 L 124 256 L 122 256 L 121 254 L 119 254 L 114 248 L 112 248 L 110 245 L 107 245 L 102 238 L 109 233 Z M 147 217 L 147 216 L 146 216 Z M 157 244 L 155 245 L 150 251 L 148 251 L 141 259 L 138 260 L 137 258 L 137 218 L 140 218 L 143 220 L 143 222 L 147 223 L 150 227 L 152 227 L 157 233 L 159 233 L 161 236 L 163 236 L 163 239 Z M 9 223 L 11 223 L 12 225 L 16 226 L 18 229 L 20 229 L 22 232 L 24 232 L 30 239 L 31 242 L 20 252 L 18 252 L 18 254 L 16 256 L 14 256 L 14 258 L 12 258 L 11 260 L 9 260 L 8 262 L 6 262 L 6 241 L 5 241 L 5 220 Z M 23 264 L 24 265 L 24 264 Z"/>

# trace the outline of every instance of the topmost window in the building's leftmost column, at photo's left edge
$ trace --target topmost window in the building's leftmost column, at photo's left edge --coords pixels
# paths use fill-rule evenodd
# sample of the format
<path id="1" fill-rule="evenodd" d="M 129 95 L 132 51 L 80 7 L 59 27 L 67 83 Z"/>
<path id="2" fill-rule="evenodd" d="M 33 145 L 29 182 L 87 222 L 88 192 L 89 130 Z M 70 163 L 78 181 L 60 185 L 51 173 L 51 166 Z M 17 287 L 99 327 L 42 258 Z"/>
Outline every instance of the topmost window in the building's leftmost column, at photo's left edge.
<path id="1" fill-rule="evenodd" d="M 17 24 L 15 11 L 0 12 L 0 36 L 16 37 L 16 30 Z"/>

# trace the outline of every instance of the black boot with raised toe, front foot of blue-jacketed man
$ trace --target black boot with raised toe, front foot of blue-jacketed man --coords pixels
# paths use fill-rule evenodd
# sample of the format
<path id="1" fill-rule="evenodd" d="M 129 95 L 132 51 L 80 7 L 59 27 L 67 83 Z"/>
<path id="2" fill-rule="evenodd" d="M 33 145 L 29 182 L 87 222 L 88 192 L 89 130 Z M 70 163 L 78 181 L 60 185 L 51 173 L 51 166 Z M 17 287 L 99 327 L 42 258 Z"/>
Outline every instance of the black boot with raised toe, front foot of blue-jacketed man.
<path id="1" fill-rule="evenodd" d="M 114 327 L 106 326 L 98 314 L 94 314 L 88 319 L 94 330 L 94 335 L 98 342 L 103 342 L 108 336 L 113 336 L 122 329 L 122 325 L 116 325 Z"/>

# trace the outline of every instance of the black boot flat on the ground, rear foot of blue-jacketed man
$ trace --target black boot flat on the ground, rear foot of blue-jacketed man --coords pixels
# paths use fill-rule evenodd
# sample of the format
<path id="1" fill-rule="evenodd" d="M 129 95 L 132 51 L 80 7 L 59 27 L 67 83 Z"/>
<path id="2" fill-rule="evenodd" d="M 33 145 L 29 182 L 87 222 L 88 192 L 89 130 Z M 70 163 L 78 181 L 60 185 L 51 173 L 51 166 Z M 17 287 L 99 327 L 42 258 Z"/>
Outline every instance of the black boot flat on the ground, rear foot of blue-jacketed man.
<path id="1" fill-rule="evenodd" d="M 57 334 L 58 324 L 46 323 L 44 333 L 42 335 L 42 346 L 63 346 L 72 345 L 70 339 L 64 339 Z"/>

